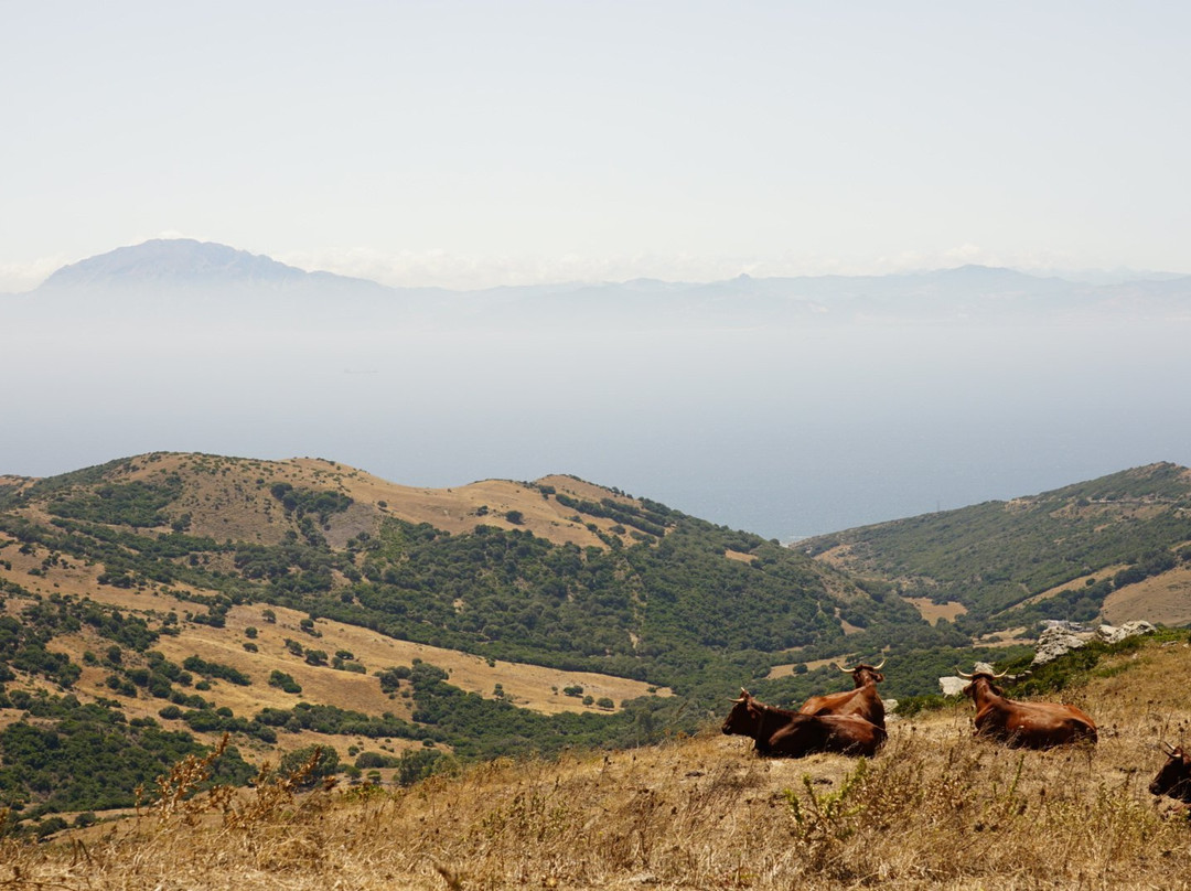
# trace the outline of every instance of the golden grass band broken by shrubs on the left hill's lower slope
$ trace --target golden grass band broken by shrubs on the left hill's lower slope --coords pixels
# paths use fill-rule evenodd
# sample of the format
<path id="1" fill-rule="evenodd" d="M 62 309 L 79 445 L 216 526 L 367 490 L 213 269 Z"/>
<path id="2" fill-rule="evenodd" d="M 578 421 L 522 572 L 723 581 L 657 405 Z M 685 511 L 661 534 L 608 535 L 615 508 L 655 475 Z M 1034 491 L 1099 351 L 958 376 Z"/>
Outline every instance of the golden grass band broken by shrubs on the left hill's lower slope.
<path id="1" fill-rule="evenodd" d="M 18 574 L 18 578 L 26 563 L 33 566 L 40 561 L 40 556 L 37 554 L 21 555 L 12 550 L 8 553 L 13 554 L 11 562 L 13 562 L 13 572 Z M 50 586 L 54 580 L 64 578 L 67 572 L 73 571 L 51 568 L 38 580 L 38 584 Z M 5 572 L 0 568 L 0 578 L 4 577 Z M 51 590 L 62 588 L 51 587 Z M 193 603 L 156 591 L 137 592 L 96 585 L 94 590 L 83 593 L 96 602 L 117 606 L 131 615 L 164 613 L 169 610 L 181 615 L 194 609 Z M 10 597 L 0 611 L 19 616 L 20 610 L 26 605 L 25 598 Z M 275 616 L 274 622 L 266 621 L 266 609 L 272 609 Z M 250 677 L 252 679 L 250 686 L 237 686 L 227 681 L 213 680 L 211 688 L 202 693 L 204 698 L 210 699 L 217 708 L 226 706 L 236 715 L 248 717 L 266 708 L 292 709 L 297 703 L 306 702 L 336 705 L 368 715 L 392 712 L 409 721 L 412 718 L 412 699 L 382 692 L 380 683 L 373 677 L 373 673 L 394 666 L 409 666 L 416 659 L 447 671 L 449 683 L 461 690 L 492 698 L 497 686 L 500 685 L 505 696 L 511 698 L 517 706 L 545 715 L 562 711 L 604 711 L 594 706 L 585 706 L 580 699 L 562 692 L 573 685 L 581 686 L 586 693 L 597 699 L 604 697 L 612 699 L 616 703 L 616 709 L 619 709 L 619 704 L 626 699 L 646 696 L 648 691 L 655 690 L 643 681 L 593 672 L 561 671 L 503 660 L 492 660 L 490 663 L 488 660 L 480 656 L 411 641 L 398 641 L 366 628 L 324 618 L 314 623 L 320 636 L 313 637 L 300 625 L 305 617 L 304 612 L 282 606 L 266 608 L 260 604 L 235 606 L 227 613 L 225 628 L 187 625 L 179 637 L 162 636 L 154 644 L 154 649 L 160 650 L 167 659 L 179 665 L 187 656 L 198 655 L 207 661 L 236 668 Z M 244 641 L 249 640 L 245 636 L 245 629 L 249 627 L 257 629 L 257 635 L 252 638 L 252 643 L 257 647 L 255 653 L 249 653 L 243 648 Z M 355 655 L 357 662 L 366 667 L 367 673 L 356 674 L 336 671 L 329 666 L 308 665 L 303 658 L 294 655 L 286 648 L 286 640 L 294 640 L 306 648 L 322 649 L 329 654 L 348 650 Z M 50 644 L 50 649 L 66 653 L 76 665 L 82 665 L 82 677 L 74 684 L 71 692 L 79 694 L 83 700 L 111 696 L 111 690 L 105 685 L 105 679 L 111 674 L 111 669 L 104 666 L 88 666 L 82 658 L 87 650 L 102 653 L 110 644 L 110 640 L 100 637 L 88 628 L 75 634 L 61 635 Z M 139 659 L 131 653 L 126 658 Z M 281 671 L 293 677 L 301 685 L 301 693 L 286 693 L 278 687 L 269 686 L 268 678 L 273 671 Z M 44 688 L 51 694 L 61 693 L 54 684 L 40 678 L 24 678 L 20 681 L 14 681 L 14 685 L 29 690 Z M 669 694 L 668 690 L 655 690 L 655 692 L 659 696 Z M 167 729 L 188 730 L 180 718 L 167 719 L 158 715 L 163 705 L 160 699 L 138 697 L 121 700 L 121 705 L 123 712 L 129 718 L 152 717 Z M 0 727 L 19 721 L 20 717 L 19 710 L 0 709 Z M 197 735 L 208 743 L 216 742 L 219 736 L 218 734 Z M 353 746 L 360 749 L 376 747 L 375 741 L 360 736 L 329 737 L 313 731 L 300 731 L 282 734 L 275 747 L 245 742 L 242 743 L 241 748 L 257 753 L 252 755 L 252 760 L 258 760 L 274 750 L 286 752 L 316 743 L 335 746 L 343 759 L 348 759 L 348 750 Z M 395 752 L 406 748 L 422 748 L 418 742 L 399 739 L 386 741 L 386 746 Z M 276 755 L 273 758 L 275 759 Z"/>

